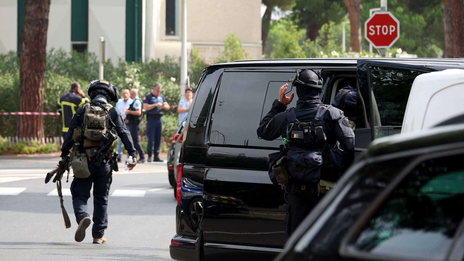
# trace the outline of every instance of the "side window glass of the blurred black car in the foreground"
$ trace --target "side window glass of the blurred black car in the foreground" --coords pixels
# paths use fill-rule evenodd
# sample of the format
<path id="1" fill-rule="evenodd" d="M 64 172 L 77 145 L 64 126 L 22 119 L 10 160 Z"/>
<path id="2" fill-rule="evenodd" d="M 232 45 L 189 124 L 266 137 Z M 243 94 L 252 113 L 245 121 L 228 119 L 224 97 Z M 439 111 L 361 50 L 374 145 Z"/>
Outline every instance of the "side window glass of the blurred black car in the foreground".
<path id="1" fill-rule="evenodd" d="M 361 230 L 354 248 L 369 254 L 444 260 L 463 220 L 464 155 L 419 163 Z"/>

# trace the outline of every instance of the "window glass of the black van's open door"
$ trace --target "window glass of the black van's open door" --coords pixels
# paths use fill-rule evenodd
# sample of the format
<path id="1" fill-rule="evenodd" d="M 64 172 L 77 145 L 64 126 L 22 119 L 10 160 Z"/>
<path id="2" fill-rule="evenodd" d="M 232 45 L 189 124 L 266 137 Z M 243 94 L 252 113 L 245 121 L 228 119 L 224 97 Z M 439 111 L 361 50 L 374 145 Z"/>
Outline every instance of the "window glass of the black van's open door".
<path id="1" fill-rule="evenodd" d="M 369 66 L 374 138 L 401 132 L 414 79 L 424 72 Z"/>

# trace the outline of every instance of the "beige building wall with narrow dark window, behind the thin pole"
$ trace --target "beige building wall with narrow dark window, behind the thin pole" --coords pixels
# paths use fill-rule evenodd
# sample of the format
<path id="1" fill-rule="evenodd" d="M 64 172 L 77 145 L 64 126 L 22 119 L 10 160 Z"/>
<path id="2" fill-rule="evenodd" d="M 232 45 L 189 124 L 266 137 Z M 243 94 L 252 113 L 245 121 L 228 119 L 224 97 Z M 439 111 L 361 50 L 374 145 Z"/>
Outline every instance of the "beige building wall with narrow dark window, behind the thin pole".
<path id="1" fill-rule="evenodd" d="M 166 54 L 180 56 L 180 35 L 165 36 L 166 0 L 160 0 L 159 30 L 155 42 L 155 57 Z M 180 14 L 182 0 L 179 1 Z M 261 0 L 188 0 L 187 42 L 197 48 L 207 63 L 214 63 L 224 49 L 224 41 L 235 33 L 251 59 L 261 59 Z"/>

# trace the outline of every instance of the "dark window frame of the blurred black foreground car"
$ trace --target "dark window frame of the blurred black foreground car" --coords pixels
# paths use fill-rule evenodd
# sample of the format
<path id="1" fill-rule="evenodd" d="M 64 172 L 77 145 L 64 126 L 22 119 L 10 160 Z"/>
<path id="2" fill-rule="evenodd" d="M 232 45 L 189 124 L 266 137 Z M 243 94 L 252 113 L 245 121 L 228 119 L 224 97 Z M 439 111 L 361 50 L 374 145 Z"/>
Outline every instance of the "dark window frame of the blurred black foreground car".
<path id="1" fill-rule="evenodd" d="M 446 149 L 445 149 L 446 148 Z M 343 237 L 339 254 L 346 258 L 354 259 L 366 259 L 366 260 L 387 260 L 387 261 L 398 261 L 398 260 L 411 260 L 411 259 L 401 259 L 398 257 L 388 257 L 383 255 L 370 254 L 364 251 L 359 251 L 354 247 L 354 242 L 358 238 L 361 231 L 366 227 L 367 223 L 372 219 L 377 210 L 380 209 L 381 205 L 388 199 L 388 197 L 393 193 L 393 190 L 400 185 L 400 183 L 411 173 L 411 171 L 416 168 L 420 163 L 423 163 L 426 160 L 431 160 L 440 157 L 449 157 L 453 155 L 464 154 L 464 142 L 457 142 L 455 144 L 444 144 L 439 145 L 434 150 L 429 150 L 425 154 L 419 155 L 412 159 L 406 167 L 396 174 L 392 182 L 380 192 L 369 205 L 369 207 L 364 211 L 363 214 L 354 222 L 353 226 L 348 230 L 346 235 Z M 464 250 L 460 250 L 457 246 L 457 241 L 464 241 L 464 217 L 459 223 L 459 227 L 456 230 L 455 235 L 453 236 L 451 247 L 448 251 L 448 254 L 445 256 L 444 260 L 448 260 L 448 257 L 455 253 L 456 251 L 461 251 L 464 255 Z M 455 250 L 455 248 L 457 248 Z M 458 253 L 457 253 L 458 254 Z M 460 259 L 462 260 L 462 259 Z"/>

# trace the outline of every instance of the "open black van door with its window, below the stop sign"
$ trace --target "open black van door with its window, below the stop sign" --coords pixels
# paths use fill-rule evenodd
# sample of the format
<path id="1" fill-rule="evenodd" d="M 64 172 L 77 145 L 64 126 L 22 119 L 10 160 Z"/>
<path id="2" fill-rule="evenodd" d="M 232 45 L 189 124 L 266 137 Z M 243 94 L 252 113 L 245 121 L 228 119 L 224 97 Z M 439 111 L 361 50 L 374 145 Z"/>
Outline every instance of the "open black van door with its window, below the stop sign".
<path id="1" fill-rule="evenodd" d="M 425 66 L 373 60 L 357 62 L 356 152 L 379 137 L 401 132 L 412 82 L 437 70 Z"/>

